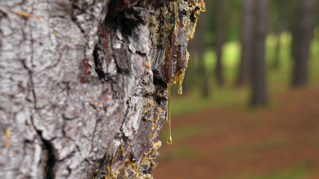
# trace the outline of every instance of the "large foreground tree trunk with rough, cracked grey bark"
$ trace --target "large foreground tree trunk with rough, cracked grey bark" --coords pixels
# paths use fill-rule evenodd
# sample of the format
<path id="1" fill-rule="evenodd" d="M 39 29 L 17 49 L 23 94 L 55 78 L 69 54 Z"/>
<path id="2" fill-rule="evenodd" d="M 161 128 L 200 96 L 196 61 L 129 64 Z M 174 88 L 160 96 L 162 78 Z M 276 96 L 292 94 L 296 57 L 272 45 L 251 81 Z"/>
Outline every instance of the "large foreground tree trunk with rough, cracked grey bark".
<path id="1" fill-rule="evenodd" d="M 152 178 L 200 6 L 171 1 L 0 1 L 0 178 Z"/>

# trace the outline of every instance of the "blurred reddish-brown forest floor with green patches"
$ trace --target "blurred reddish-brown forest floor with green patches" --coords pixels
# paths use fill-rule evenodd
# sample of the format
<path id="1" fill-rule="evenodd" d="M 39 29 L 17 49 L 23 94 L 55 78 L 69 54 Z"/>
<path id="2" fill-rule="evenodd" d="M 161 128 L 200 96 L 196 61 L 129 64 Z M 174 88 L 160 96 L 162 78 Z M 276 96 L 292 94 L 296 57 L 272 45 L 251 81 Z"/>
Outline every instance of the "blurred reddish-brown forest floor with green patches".
<path id="1" fill-rule="evenodd" d="M 271 99 L 268 108 L 174 117 L 173 144 L 161 138 L 154 179 L 319 179 L 319 87 Z"/>

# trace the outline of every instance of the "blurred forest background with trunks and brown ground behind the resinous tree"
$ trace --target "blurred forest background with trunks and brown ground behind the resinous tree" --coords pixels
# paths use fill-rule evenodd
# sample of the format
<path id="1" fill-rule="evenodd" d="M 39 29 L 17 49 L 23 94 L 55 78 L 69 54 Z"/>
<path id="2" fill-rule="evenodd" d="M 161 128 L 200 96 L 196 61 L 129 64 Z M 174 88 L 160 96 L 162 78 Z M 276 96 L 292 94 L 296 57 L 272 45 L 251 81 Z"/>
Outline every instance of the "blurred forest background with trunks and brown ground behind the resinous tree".
<path id="1" fill-rule="evenodd" d="M 156 179 L 319 179 L 319 0 L 205 0 Z"/>

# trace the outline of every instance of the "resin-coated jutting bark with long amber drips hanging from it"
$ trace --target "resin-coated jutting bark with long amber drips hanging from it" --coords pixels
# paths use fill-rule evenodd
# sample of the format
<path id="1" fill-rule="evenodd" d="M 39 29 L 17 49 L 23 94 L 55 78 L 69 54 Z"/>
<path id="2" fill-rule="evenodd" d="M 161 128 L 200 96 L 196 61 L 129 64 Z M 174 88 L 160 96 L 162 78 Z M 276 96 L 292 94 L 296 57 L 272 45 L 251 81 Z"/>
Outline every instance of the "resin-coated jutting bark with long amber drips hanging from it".
<path id="1" fill-rule="evenodd" d="M 187 44 L 188 40 L 194 37 L 197 18 L 201 11 L 205 11 L 205 3 L 200 0 L 178 0 L 159 10 L 160 19 L 164 19 L 164 24 L 159 26 L 159 42 L 155 49 L 152 46 L 152 50 L 165 50 L 162 79 L 167 83 L 168 144 L 172 143 L 170 87 L 172 84 L 179 85 L 178 93 L 183 93 L 182 84 L 189 59 Z"/>

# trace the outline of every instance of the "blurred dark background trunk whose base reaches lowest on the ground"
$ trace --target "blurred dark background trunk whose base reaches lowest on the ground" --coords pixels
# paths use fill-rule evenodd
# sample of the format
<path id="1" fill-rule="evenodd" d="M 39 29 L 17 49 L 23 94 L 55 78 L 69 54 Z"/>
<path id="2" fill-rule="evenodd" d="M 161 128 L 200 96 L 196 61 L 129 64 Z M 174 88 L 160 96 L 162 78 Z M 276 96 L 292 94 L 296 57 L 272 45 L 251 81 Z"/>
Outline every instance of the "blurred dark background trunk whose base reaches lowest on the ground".
<path id="1" fill-rule="evenodd" d="M 267 103 L 265 79 L 265 38 L 267 35 L 268 1 L 256 1 L 256 32 L 252 61 L 252 105 L 265 105 Z"/>

